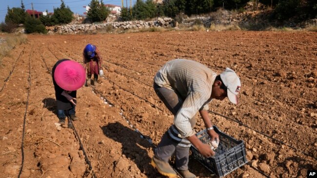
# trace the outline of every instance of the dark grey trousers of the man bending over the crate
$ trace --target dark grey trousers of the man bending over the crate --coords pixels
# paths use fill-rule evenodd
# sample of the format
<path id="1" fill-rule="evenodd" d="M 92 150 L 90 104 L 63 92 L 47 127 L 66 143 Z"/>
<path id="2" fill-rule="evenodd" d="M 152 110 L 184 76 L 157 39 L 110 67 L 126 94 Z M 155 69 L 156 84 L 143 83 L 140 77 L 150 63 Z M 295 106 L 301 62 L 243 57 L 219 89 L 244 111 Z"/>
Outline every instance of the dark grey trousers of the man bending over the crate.
<path id="1" fill-rule="evenodd" d="M 175 115 L 183 104 L 183 99 L 180 95 L 171 89 L 159 87 L 156 83 L 154 83 L 154 90 L 164 105 Z M 176 168 L 178 170 L 187 170 L 189 147 L 179 146 L 178 142 L 172 140 L 166 131 L 162 140 L 158 143 L 158 147 L 155 149 L 155 156 L 160 160 L 168 162 L 174 153 L 176 153 Z"/>

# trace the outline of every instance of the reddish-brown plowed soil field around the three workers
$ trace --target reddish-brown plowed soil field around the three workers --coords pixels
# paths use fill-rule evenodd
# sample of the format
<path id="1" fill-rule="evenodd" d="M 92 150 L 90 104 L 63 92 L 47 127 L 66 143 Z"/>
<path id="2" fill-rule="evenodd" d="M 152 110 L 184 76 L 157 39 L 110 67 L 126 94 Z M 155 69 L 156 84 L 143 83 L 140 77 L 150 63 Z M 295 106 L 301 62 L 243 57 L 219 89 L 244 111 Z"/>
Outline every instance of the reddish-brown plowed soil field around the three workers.
<path id="1" fill-rule="evenodd" d="M 59 59 L 81 62 L 87 43 L 99 47 L 105 73 L 98 86 L 77 94 L 74 126 L 90 172 L 74 130 L 55 125 L 50 74 Z M 29 35 L 0 66 L 0 177 L 17 177 L 24 156 L 21 178 L 162 178 L 150 160 L 173 116 L 152 85 L 158 69 L 174 58 L 218 73 L 230 67 L 241 78 L 239 105 L 210 103 L 212 123 L 245 142 L 252 165 L 226 178 L 264 178 L 260 172 L 306 178 L 307 170 L 317 169 L 317 33 L 181 31 Z M 204 124 L 197 120 L 200 131 Z M 212 177 L 192 158 L 189 169 Z"/>

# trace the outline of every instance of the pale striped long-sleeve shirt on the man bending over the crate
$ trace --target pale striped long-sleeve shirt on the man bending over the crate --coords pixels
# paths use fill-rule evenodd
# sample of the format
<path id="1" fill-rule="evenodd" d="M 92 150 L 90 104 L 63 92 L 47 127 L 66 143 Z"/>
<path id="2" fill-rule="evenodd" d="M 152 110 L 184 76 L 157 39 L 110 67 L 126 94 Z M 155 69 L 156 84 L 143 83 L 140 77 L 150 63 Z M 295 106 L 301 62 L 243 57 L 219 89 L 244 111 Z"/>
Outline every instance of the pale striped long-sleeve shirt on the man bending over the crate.
<path id="1" fill-rule="evenodd" d="M 196 61 L 174 59 L 167 62 L 154 77 L 154 82 L 158 86 L 177 91 L 184 100 L 174 117 L 174 125 L 179 138 L 195 134 L 193 127 L 196 122 L 192 120 L 195 120 L 195 115 L 199 110 L 208 110 L 212 85 L 216 76 L 214 71 Z M 169 132 L 172 131 L 175 131 L 173 127 L 169 129 Z"/>

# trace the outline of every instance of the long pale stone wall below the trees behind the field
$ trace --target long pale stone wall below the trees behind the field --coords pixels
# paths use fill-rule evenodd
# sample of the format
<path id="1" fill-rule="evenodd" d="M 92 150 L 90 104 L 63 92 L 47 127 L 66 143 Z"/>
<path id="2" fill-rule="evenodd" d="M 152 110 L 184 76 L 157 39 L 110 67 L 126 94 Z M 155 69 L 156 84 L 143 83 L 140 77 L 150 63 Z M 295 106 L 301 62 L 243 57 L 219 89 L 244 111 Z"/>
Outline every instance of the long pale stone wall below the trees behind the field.
<path id="1" fill-rule="evenodd" d="M 79 34 L 79 33 L 94 33 L 97 31 L 109 31 L 112 29 L 137 29 L 149 27 L 171 27 L 172 18 L 158 18 L 154 21 L 124 21 L 124 22 L 107 22 L 100 24 L 73 24 L 55 27 L 47 27 L 48 34 Z"/>

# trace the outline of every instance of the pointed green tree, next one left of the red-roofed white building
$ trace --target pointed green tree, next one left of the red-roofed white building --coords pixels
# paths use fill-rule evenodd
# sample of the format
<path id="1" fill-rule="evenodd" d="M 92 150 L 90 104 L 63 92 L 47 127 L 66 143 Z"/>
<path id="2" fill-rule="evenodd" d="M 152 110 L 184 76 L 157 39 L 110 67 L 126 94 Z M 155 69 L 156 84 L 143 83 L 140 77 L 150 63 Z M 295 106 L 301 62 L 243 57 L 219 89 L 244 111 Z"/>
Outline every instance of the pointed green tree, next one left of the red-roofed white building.
<path id="1" fill-rule="evenodd" d="M 60 7 L 54 9 L 53 18 L 57 20 L 59 24 L 67 24 L 73 20 L 73 12 L 64 3 L 64 0 L 60 0 Z"/>

